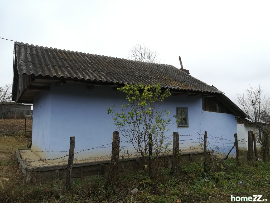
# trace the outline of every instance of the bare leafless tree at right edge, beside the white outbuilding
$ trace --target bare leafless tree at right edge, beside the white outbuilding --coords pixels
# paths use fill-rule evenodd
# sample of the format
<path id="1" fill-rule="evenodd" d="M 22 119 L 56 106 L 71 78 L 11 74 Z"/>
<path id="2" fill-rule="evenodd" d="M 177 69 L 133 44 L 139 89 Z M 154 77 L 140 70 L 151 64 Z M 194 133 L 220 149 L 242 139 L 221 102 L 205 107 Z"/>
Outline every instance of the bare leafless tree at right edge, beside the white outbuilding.
<path id="1" fill-rule="evenodd" d="M 246 114 L 249 115 L 252 125 L 259 130 L 259 143 L 262 147 L 262 155 L 266 161 L 269 154 L 269 122 L 270 122 L 270 100 L 263 94 L 261 86 L 249 86 L 246 96 L 237 95 L 237 100 Z"/>

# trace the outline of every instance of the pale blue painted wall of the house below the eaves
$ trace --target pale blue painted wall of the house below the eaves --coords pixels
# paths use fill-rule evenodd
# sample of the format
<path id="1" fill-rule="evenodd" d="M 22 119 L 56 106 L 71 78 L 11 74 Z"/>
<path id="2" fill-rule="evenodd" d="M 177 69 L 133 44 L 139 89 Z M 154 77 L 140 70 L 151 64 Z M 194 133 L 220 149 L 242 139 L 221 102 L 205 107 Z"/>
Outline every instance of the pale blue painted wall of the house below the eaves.
<path id="1" fill-rule="evenodd" d="M 108 87 L 86 89 L 86 85 L 65 84 L 56 87 L 51 84 L 49 92 L 36 95 L 33 101 L 33 140 L 32 149 L 49 151 L 68 151 L 69 137 L 75 136 L 75 149 L 90 149 L 112 142 L 112 132 L 116 130 L 113 119 L 107 114 L 108 107 L 127 104 L 123 93 Z M 176 115 L 176 107 L 188 107 L 189 128 L 179 129 L 176 123 L 170 127 L 167 135 L 178 132 L 180 147 L 199 145 L 198 133 L 206 130 L 210 135 L 234 139 L 237 132 L 235 116 L 223 113 L 202 111 L 200 97 L 173 96 L 167 98 L 160 109 Z M 117 109 L 117 108 L 116 108 Z M 191 136 L 189 136 L 191 135 Z M 120 135 L 123 138 L 123 136 Z M 120 139 L 121 140 L 121 139 Z M 197 143 L 187 143 L 187 142 Z M 185 144 L 183 144 L 185 143 Z M 120 143 L 126 146 L 125 143 Z M 76 153 L 76 158 L 89 158 L 108 155 L 111 145 Z M 129 148 L 129 151 L 131 149 Z M 57 158 L 64 153 L 50 153 L 49 158 Z M 46 156 L 48 158 L 48 155 Z M 43 157 L 42 157 L 43 158 Z"/>

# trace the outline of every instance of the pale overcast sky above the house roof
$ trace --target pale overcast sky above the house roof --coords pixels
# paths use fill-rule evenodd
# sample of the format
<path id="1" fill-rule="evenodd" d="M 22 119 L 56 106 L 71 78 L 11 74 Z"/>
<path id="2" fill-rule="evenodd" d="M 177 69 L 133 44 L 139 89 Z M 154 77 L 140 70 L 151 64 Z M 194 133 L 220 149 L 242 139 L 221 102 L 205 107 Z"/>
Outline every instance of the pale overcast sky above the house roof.
<path id="1" fill-rule="evenodd" d="M 75 3 L 76 2 L 76 3 Z M 270 1 L 1 1 L 0 37 L 128 58 L 142 42 L 236 103 L 249 84 L 270 97 Z M 14 42 L 0 39 L 0 86 Z"/>

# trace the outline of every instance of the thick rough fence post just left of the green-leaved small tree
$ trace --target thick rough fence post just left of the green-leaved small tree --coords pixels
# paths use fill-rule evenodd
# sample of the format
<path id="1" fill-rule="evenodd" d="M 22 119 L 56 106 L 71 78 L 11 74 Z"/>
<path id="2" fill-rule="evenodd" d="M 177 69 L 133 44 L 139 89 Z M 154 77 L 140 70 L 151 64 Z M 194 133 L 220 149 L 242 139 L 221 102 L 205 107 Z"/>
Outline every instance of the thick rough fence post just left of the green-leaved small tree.
<path id="1" fill-rule="evenodd" d="M 112 157 L 109 168 L 108 175 L 108 185 L 116 185 L 118 179 L 118 162 L 119 162 L 119 152 L 120 152 L 120 138 L 119 132 L 113 132 L 113 143 L 112 143 Z"/>

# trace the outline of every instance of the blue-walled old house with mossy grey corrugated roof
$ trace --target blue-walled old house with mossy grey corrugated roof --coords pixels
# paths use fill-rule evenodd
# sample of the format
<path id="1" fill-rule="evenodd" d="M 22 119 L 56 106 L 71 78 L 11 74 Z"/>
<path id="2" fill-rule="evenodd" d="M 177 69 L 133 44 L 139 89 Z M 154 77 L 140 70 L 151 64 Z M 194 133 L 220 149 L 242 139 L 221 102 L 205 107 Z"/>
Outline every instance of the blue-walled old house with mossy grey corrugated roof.
<path id="1" fill-rule="evenodd" d="M 207 131 L 209 147 L 231 148 L 233 143 L 216 143 L 216 137 L 234 140 L 236 117 L 247 117 L 222 91 L 192 77 L 183 67 L 19 42 L 14 44 L 14 58 L 12 100 L 33 103 L 32 150 L 42 159 L 66 155 L 61 151 L 69 150 L 70 136 L 75 136 L 75 150 L 111 143 L 116 127 L 107 109 L 127 103 L 123 93 L 116 91 L 124 83 L 160 83 L 170 89 L 171 96 L 161 108 L 177 115 L 180 122 L 173 123 L 169 133 L 176 131 L 186 135 L 184 140 L 192 140 L 180 139 L 180 147 L 199 145 L 198 134 Z M 110 153 L 110 148 L 91 150 L 93 157 Z M 76 153 L 77 158 L 89 156 L 87 150 Z"/>

